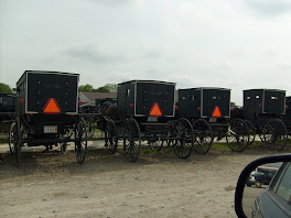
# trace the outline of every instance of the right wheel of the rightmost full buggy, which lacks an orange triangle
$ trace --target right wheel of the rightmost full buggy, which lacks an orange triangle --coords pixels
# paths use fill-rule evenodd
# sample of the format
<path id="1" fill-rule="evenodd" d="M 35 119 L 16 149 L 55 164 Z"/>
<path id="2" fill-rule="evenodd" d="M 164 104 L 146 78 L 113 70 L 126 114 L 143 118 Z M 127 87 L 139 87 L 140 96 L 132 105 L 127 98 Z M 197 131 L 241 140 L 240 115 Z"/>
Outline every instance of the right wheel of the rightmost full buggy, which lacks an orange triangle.
<path id="1" fill-rule="evenodd" d="M 282 150 L 288 141 L 285 124 L 279 119 L 269 120 L 262 130 L 263 142 L 270 145 L 271 150 Z"/>

